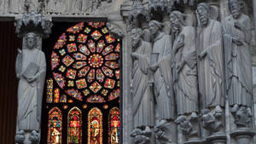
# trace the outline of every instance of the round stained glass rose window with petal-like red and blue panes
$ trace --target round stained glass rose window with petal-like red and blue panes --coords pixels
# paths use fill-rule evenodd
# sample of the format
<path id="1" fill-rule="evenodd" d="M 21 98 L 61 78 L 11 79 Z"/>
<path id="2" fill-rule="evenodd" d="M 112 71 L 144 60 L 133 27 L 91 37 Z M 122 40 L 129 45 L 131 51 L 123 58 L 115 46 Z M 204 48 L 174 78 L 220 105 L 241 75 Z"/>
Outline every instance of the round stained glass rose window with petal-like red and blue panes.
<path id="1" fill-rule="evenodd" d="M 112 101 L 120 95 L 120 46 L 105 22 L 81 22 L 68 28 L 51 54 L 55 82 L 79 101 Z"/>

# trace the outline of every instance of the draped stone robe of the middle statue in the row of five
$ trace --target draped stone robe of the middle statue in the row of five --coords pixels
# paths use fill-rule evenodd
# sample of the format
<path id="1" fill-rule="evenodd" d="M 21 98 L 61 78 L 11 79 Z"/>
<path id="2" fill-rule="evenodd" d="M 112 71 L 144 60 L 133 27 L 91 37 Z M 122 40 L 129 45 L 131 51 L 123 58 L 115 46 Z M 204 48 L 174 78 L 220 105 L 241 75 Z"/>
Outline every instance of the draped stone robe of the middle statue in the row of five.
<path id="1" fill-rule="evenodd" d="M 177 44 L 184 42 L 184 46 L 175 52 L 174 55 L 174 91 L 176 94 L 177 114 L 183 115 L 191 112 L 198 112 L 198 87 L 197 67 L 195 52 L 195 28 L 184 26 L 173 42 L 173 49 Z M 177 65 L 184 61 L 185 64 L 180 72 L 177 72 Z"/>

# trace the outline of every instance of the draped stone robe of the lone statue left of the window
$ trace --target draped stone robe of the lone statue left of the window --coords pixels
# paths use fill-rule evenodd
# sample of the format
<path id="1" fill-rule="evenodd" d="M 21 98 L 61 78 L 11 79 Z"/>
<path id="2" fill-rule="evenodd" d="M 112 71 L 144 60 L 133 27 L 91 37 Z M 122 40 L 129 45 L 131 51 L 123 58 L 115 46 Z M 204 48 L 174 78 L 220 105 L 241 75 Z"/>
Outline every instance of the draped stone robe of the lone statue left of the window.
<path id="1" fill-rule="evenodd" d="M 37 80 L 29 84 L 23 73 L 26 67 L 34 62 L 39 67 Z M 42 95 L 46 61 L 44 52 L 38 49 L 24 49 L 22 55 L 17 56 L 16 74 L 20 78 L 18 85 L 18 116 L 17 130 L 39 130 L 41 120 Z"/>

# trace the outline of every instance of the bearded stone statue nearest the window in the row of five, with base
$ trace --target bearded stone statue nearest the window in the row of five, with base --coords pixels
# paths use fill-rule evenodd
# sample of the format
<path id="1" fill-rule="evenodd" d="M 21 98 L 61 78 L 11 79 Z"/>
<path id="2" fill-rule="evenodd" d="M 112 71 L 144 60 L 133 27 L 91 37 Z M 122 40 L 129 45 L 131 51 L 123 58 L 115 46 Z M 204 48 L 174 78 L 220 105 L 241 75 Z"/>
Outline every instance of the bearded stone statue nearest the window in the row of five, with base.
<path id="1" fill-rule="evenodd" d="M 143 30 L 140 28 L 131 30 L 131 39 L 131 58 L 133 60 L 131 85 L 135 128 L 131 136 L 135 138 L 137 143 L 143 143 L 143 141 L 148 143 L 152 133 L 150 129 L 154 126 L 154 97 L 149 85 L 149 61 L 152 47 L 150 43 L 143 41 Z M 147 135 L 143 135 L 143 133 Z"/>

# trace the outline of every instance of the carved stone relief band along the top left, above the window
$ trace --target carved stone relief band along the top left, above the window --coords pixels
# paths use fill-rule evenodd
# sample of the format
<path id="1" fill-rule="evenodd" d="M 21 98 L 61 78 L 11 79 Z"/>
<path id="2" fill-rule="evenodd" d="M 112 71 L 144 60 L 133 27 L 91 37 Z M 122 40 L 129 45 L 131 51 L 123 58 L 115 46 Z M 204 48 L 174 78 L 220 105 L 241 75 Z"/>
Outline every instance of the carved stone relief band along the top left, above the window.
<path id="1" fill-rule="evenodd" d="M 0 13 L 90 14 L 112 0 L 1 0 Z"/>

